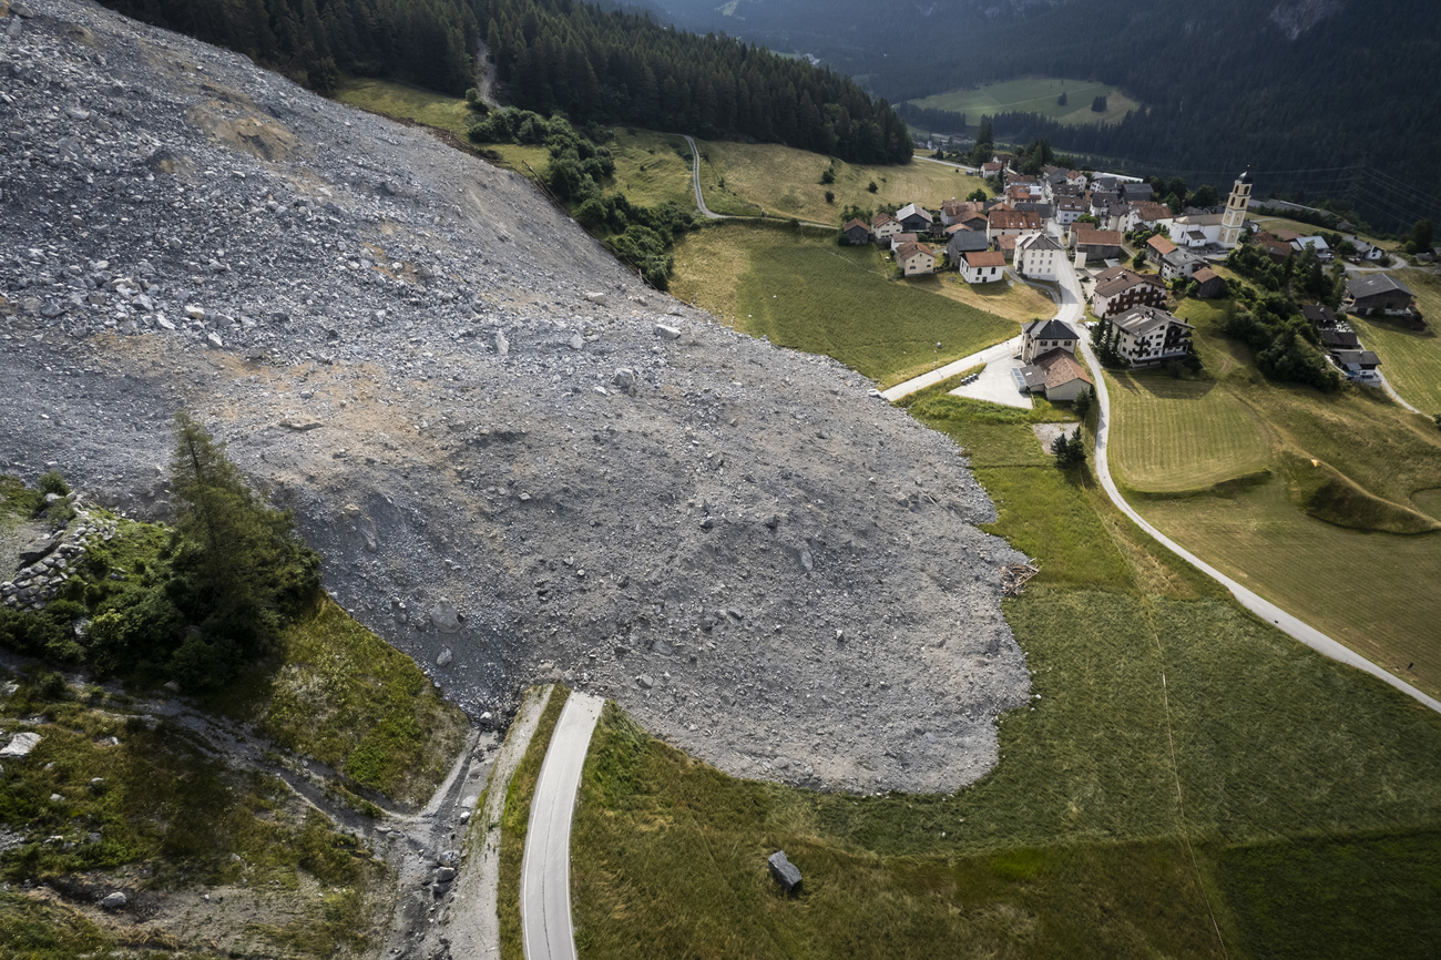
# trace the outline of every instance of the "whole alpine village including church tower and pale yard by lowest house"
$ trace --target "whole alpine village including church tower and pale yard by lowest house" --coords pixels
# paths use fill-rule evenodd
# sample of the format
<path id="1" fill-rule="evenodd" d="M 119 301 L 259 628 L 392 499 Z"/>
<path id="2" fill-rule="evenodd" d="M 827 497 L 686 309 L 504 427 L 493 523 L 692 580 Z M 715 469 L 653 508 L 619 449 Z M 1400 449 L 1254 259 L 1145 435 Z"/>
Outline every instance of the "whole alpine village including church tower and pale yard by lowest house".
<path id="1" fill-rule="evenodd" d="M 852 218 L 840 238 L 844 244 L 888 249 L 899 278 L 954 270 L 973 287 L 1026 283 L 1058 304 L 1058 285 L 1074 284 L 1085 304 L 1076 321 L 1089 334 L 1061 317 L 1025 324 L 1022 336 L 1010 342 L 1014 396 L 1001 385 L 999 372 L 986 378 L 989 389 L 968 382 L 957 389 L 958 395 L 1017 406 L 1029 406 L 1030 395 L 1074 401 L 1092 389 L 1075 357 L 1085 336 L 1107 366 L 1196 369 L 1193 327 L 1173 310 L 1185 297 L 1239 294 L 1245 275 L 1241 264 L 1254 270 L 1257 262 L 1272 262 L 1290 275 L 1304 261 L 1342 278 L 1344 290 L 1337 288 L 1331 297 L 1336 306 L 1300 306 L 1329 365 L 1350 382 L 1386 386 L 1380 357 L 1359 340 L 1347 313 L 1395 317 L 1414 329 L 1425 326 L 1412 291 L 1386 271 L 1391 259 L 1379 246 L 1359 236 L 1337 242 L 1339 235 L 1329 234 L 1329 241 L 1320 231 L 1301 235 L 1265 229 L 1248 216 L 1261 206 L 1252 196 L 1249 170 L 1235 179 L 1225 205 L 1180 213 L 1157 200 L 1151 185 L 1138 177 L 1058 166 L 1032 176 L 1017 173 L 1006 154 L 983 164 L 978 173 L 993 185 L 996 196 L 980 199 L 977 192 L 965 200 L 945 200 L 937 212 L 909 203 L 869 221 Z M 1239 248 L 1248 252 L 1242 261 L 1236 258 Z"/>

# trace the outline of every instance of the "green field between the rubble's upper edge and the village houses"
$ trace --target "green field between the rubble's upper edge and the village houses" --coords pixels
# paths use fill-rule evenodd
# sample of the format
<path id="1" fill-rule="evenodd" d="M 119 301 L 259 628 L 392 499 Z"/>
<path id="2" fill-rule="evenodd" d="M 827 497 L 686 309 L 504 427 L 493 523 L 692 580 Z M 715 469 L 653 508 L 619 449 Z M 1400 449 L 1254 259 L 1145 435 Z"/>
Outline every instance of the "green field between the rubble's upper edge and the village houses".
<path id="1" fill-rule="evenodd" d="M 718 223 L 687 235 L 674 257 L 679 298 L 772 343 L 833 356 L 880 386 L 1016 334 L 1009 320 L 895 280 L 876 248 L 837 246 L 820 231 Z"/>

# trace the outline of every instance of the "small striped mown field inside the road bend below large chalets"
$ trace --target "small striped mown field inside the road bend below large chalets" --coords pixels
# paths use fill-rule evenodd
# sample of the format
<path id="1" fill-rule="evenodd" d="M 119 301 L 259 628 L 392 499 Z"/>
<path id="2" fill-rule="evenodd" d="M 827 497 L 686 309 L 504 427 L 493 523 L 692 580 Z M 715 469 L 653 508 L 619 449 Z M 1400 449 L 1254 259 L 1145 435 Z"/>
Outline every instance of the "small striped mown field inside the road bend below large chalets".
<path id="1" fill-rule="evenodd" d="M 1136 490 L 1196 490 L 1264 470 L 1271 447 L 1255 417 L 1206 381 L 1107 375 L 1117 430 L 1110 444 L 1118 480 Z"/>

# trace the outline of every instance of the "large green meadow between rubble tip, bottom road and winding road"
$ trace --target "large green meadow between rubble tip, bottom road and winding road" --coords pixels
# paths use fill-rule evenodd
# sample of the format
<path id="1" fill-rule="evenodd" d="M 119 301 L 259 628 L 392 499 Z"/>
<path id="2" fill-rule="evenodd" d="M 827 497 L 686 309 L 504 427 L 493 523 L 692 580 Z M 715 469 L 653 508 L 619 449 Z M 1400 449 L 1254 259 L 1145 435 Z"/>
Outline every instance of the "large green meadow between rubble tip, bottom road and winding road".
<path id="1" fill-rule="evenodd" d="M 1441 718 L 1097 509 L 1035 454 L 1032 419 L 1063 414 L 911 409 L 971 455 L 994 530 L 1040 548 L 1006 601 L 1039 699 L 980 783 L 885 797 L 732 778 L 610 706 L 575 825 L 582 954 L 1427 956 Z M 777 849 L 795 898 L 767 875 Z M 1366 923 L 1337 908 L 1353 894 Z"/>

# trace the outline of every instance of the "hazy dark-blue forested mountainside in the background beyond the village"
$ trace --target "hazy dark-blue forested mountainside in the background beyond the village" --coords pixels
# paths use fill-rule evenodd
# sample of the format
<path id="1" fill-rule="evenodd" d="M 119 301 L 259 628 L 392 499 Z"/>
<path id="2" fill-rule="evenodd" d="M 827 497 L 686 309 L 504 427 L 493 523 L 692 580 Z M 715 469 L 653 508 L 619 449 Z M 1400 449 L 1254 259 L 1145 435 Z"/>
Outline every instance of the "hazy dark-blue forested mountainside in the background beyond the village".
<path id="1" fill-rule="evenodd" d="M 814 53 L 893 102 L 1039 74 L 1147 105 L 1110 128 L 1003 114 L 1009 140 L 1196 180 L 1249 166 L 1258 192 L 1334 195 L 1378 223 L 1441 215 L 1424 196 L 1441 193 L 1434 4 L 940 0 L 898 16 L 860 0 L 739 0 L 720 16 L 710 0 L 660 1 L 682 26 Z"/>

